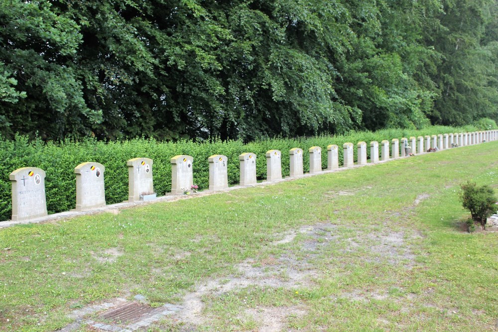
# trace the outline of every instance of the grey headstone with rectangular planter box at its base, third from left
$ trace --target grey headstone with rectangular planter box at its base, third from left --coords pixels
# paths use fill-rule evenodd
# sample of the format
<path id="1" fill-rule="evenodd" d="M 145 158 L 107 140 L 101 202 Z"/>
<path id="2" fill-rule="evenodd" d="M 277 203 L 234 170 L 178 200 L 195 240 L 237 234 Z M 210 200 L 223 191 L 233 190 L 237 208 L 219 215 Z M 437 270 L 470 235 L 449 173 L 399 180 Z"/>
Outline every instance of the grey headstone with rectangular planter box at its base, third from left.
<path id="1" fill-rule="evenodd" d="M 140 195 L 154 193 L 152 182 L 152 159 L 133 158 L 126 162 L 128 166 L 128 202 L 140 201 Z"/>

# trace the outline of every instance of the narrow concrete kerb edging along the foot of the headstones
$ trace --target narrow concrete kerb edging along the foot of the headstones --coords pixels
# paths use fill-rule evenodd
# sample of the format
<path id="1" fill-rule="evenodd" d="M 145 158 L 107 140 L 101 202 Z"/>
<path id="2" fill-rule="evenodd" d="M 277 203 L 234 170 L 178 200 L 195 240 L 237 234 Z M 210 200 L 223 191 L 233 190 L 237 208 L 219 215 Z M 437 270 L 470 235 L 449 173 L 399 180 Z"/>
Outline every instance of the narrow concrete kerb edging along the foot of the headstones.
<path id="1" fill-rule="evenodd" d="M 486 141 L 485 143 L 488 143 L 488 142 L 490 142 L 490 141 Z M 459 148 L 459 147 L 467 147 L 467 146 L 457 146 L 457 148 Z M 452 149 L 454 149 L 454 148 L 438 150 L 435 152 L 450 151 Z M 417 153 L 417 154 L 415 154 L 415 156 L 420 155 L 420 154 L 428 154 L 428 153 L 432 153 L 432 152 Z M 133 207 L 137 207 L 137 206 L 144 206 L 144 205 L 161 203 L 161 202 L 177 201 L 180 199 L 192 199 L 192 198 L 203 197 L 203 196 L 208 196 L 208 195 L 222 194 L 225 192 L 243 189 L 243 188 L 274 185 L 274 184 L 281 183 L 281 182 L 293 181 L 296 179 L 303 179 L 303 178 L 308 178 L 308 177 L 316 176 L 316 175 L 329 174 L 329 173 L 334 173 L 334 172 L 342 172 L 342 171 L 345 171 L 348 169 L 359 168 L 359 167 L 364 167 L 364 166 L 379 165 L 379 164 L 382 164 L 385 162 L 394 161 L 394 160 L 401 160 L 401 159 L 410 158 L 410 157 L 411 156 L 389 158 L 388 160 L 379 160 L 378 162 L 375 162 L 375 163 L 367 163 L 364 165 L 354 164 L 353 166 L 350 166 L 350 167 L 340 167 L 340 168 L 333 169 L 333 170 L 324 169 L 323 171 L 321 171 L 319 173 L 315 173 L 315 174 L 306 173 L 306 174 L 304 174 L 302 176 L 298 176 L 298 177 L 292 177 L 292 178 L 285 177 L 285 178 L 282 178 L 279 180 L 274 180 L 274 181 L 262 181 L 262 182 L 258 182 L 254 185 L 249 185 L 249 186 L 240 186 L 240 185 L 239 186 L 232 186 L 232 187 L 229 187 L 227 189 L 217 190 L 217 191 L 205 190 L 205 191 L 198 192 L 196 195 L 184 195 L 184 194 L 171 194 L 170 193 L 170 194 L 167 194 L 165 196 L 159 196 L 159 197 L 157 197 L 157 199 L 155 199 L 153 201 L 145 201 L 145 202 L 138 201 L 138 202 L 133 202 L 133 203 L 130 203 L 130 202 L 116 203 L 116 204 L 110 204 L 110 205 L 106 205 L 105 207 L 91 209 L 91 210 L 65 211 L 65 212 L 60 212 L 60 213 L 48 215 L 48 216 L 41 217 L 41 218 L 24 220 L 24 221 L 1 221 L 0 222 L 0 229 L 14 226 L 14 225 L 19 225 L 19 224 L 40 223 L 40 222 L 44 222 L 44 221 L 57 221 L 57 220 L 62 220 L 62 219 L 66 219 L 66 218 L 70 219 L 70 218 L 75 218 L 75 217 L 80 217 L 80 216 L 90 216 L 90 215 L 95 215 L 95 214 L 104 213 L 104 212 L 112 212 L 112 211 L 116 211 L 116 210 L 120 210 L 120 209 L 128 209 L 128 208 L 133 208 Z"/>

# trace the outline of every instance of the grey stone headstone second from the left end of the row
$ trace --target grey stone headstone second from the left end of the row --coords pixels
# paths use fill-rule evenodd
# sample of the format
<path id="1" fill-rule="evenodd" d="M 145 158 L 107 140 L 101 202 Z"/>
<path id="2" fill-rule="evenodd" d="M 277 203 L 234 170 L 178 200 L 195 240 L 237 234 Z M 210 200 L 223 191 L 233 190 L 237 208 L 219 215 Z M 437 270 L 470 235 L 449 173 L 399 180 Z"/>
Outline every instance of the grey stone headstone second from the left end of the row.
<path id="1" fill-rule="evenodd" d="M 75 167 L 76 211 L 106 206 L 105 170 L 99 163 L 82 163 Z"/>

